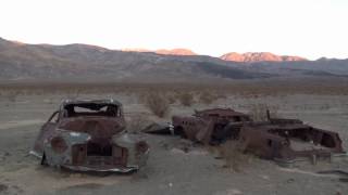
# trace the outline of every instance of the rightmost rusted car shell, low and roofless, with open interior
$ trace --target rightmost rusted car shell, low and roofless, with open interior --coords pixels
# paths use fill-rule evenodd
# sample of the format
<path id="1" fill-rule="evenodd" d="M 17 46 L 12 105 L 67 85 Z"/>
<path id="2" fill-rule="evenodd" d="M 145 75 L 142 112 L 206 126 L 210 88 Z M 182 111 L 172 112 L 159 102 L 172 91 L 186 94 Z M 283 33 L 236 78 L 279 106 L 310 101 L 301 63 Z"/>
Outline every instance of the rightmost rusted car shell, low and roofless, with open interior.
<path id="1" fill-rule="evenodd" d="M 238 145 L 245 152 L 286 164 L 299 158 L 310 158 L 315 164 L 316 159 L 344 154 L 338 133 L 295 119 L 246 123 L 240 128 Z"/>

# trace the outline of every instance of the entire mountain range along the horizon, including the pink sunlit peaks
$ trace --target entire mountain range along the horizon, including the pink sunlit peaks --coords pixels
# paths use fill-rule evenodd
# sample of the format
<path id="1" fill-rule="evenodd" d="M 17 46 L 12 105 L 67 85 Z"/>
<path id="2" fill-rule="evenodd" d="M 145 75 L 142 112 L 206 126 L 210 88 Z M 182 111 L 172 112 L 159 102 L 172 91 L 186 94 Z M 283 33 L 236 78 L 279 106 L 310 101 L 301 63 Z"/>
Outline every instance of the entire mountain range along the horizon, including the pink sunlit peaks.
<path id="1" fill-rule="evenodd" d="M 191 80 L 347 77 L 348 60 L 269 52 L 199 55 L 187 49 L 110 50 L 89 44 L 26 44 L 0 38 L 0 80 Z"/>

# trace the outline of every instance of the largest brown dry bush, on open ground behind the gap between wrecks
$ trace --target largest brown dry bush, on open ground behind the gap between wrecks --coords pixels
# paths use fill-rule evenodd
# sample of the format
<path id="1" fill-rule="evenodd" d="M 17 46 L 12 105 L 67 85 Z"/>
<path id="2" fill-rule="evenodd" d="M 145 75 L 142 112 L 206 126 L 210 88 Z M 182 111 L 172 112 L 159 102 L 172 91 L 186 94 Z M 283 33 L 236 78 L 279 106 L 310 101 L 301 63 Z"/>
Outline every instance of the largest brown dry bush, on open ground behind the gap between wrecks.
<path id="1" fill-rule="evenodd" d="M 160 93 L 149 93 L 145 96 L 145 105 L 158 117 L 165 117 L 170 112 L 170 103 Z"/>

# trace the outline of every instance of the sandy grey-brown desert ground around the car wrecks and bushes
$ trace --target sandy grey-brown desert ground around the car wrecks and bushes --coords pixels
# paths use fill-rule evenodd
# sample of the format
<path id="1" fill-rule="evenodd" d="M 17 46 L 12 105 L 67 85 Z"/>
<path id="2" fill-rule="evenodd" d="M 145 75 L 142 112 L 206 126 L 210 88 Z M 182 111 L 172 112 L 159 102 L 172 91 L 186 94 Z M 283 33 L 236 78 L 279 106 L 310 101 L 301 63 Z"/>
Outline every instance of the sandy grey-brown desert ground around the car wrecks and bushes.
<path id="1" fill-rule="evenodd" d="M 122 84 L 121 84 L 122 86 Z M 119 86 L 120 87 L 120 86 Z M 216 87 L 185 88 L 192 94 L 189 105 L 178 98 L 179 88 L 169 87 L 157 91 L 156 86 L 134 88 L 96 88 L 91 90 L 64 87 L 1 88 L 0 101 L 0 194 L 347 194 L 348 185 L 337 174 L 320 174 L 323 170 L 348 171 L 348 158 L 333 161 L 297 162 L 282 167 L 274 161 L 248 155 L 238 161 L 238 169 L 226 166 L 216 148 L 192 144 L 177 136 L 144 134 L 151 147 L 147 166 L 138 172 L 85 173 L 41 167 L 30 151 L 40 126 L 64 99 L 113 98 L 124 105 L 132 130 L 146 122 L 170 121 L 173 115 L 188 115 L 195 109 L 232 107 L 250 113 L 254 107 L 266 106 L 277 116 L 298 118 L 314 127 L 337 131 L 348 148 L 348 94 L 347 89 L 327 90 L 307 87 L 298 90 L 283 87 L 264 91 L 248 88 L 224 89 Z M 52 89 L 57 90 L 52 90 Z M 50 90 L 47 90 L 50 89 Z M 311 89 L 311 90 L 309 90 Z M 313 90 L 314 89 L 314 90 Z M 170 110 L 163 117 L 154 116 L 141 100 L 146 93 L 163 93 L 171 99 Z M 204 91 L 213 98 L 202 101 Z M 272 91 L 272 93 L 270 92 Z M 139 117 L 140 116 L 140 117 Z M 137 121 L 135 121 L 137 120 Z M 141 120 L 141 121 L 139 121 Z M 137 126 L 134 123 L 137 122 Z M 132 125 L 133 123 L 133 125 Z M 138 132 L 137 132 L 138 133 Z M 188 151 L 183 151 L 188 147 Z"/>

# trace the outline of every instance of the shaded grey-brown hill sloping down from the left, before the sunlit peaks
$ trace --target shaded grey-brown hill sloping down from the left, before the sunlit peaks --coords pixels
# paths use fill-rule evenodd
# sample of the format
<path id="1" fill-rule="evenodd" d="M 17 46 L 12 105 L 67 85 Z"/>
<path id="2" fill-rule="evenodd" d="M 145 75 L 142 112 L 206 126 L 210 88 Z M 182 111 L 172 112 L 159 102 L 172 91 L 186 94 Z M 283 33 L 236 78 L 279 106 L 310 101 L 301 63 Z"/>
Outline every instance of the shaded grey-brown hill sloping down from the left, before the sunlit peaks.
<path id="1" fill-rule="evenodd" d="M 270 76 L 228 66 L 219 58 L 195 57 L 125 52 L 88 44 L 25 44 L 0 39 L 0 79 L 179 80 Z M 201 62 L 204 65 L 200 65 Z"/>

